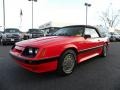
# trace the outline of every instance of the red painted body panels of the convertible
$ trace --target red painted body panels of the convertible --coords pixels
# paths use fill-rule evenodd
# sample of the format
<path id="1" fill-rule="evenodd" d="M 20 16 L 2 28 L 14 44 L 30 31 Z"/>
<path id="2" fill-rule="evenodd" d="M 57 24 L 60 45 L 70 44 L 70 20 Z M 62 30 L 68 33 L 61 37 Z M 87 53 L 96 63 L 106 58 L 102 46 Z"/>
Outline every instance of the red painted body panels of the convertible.
<path id="1" fill-rule="evenodd" d="M 39 51 L 34 58 L 22 56 L 22 50 L 16 50 L 15 48 L 12 49 L 10 53 L 13 56 L 21 59 L 43 60 L 46 58 L 60 57 L 65 50 L 74 49 L 76 50 L 76 53 L 79 53 L 77 54 L 77 62 L 80 63 L 91 57 L 100 55 L 102 52 L 102 46 L 106 45 L 107 43 L 108 41 L 106 38 L 85 39 L 84 37 L 79 36 L 49 36 L 16 43 L 16 46 L 22 47 L 22 50 L 26 47 L 37 47 Z M 21 67 L 37 73 L 48 72 L 57 69 L 57 60 L 39 65 L 29 65 L 17 60 L 16 62 Z"/>

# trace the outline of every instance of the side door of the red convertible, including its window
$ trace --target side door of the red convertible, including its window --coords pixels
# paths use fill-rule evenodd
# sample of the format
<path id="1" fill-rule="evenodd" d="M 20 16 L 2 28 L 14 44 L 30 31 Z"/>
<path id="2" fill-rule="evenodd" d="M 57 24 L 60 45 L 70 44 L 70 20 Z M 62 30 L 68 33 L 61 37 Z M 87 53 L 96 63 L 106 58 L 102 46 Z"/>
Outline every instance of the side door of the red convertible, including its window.
<path id="1" fill-rule="evenodd" d="M 84 36 L 89 35 L 89 38 Z M 102 42 L 100 40 L 100 35 L 95 28 L 85 27 L 84 30 L 84 43 L 82 44 L 82 49 L 80 50 L 79 59 L 80 62 L 87 60 L 91 57 L 98 55 L 98 52 L 101 51 Z"/>

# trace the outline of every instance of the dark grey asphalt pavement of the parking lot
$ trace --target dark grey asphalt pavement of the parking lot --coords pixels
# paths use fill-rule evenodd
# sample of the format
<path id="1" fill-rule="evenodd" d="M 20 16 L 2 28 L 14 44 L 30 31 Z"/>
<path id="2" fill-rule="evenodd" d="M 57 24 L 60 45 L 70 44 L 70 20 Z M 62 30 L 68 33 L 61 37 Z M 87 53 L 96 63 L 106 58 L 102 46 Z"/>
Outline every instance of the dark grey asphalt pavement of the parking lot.
<path id="1" fill-rule="evenodd" d="M 0 46 L 0 90 L 120 90 L 120 42 L 111 43 L 108 56 L 79 64 L 69 76 L 36 74 L 19 67 Z"/>

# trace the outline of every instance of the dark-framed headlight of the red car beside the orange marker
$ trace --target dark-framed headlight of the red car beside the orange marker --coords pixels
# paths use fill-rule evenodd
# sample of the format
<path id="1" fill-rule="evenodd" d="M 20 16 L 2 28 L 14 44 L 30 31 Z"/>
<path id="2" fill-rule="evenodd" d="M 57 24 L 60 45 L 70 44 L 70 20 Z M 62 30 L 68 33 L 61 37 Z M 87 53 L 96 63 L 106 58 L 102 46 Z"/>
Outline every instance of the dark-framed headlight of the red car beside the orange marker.
<path id="1" fill-rule="evenodd" d="M 35 57 L 38 53 L 38 48 L 27 47 L 24 49 L 22 55 L 26 57 Z"/>

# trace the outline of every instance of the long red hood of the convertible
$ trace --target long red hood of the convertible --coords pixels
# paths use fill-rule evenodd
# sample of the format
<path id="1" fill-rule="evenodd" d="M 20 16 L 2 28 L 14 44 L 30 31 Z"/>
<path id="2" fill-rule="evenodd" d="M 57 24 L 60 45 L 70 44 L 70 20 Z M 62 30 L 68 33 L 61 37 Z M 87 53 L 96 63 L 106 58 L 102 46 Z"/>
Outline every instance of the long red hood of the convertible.
<path id="1" fill-rule="evenodd" d="M 21 42 L 17 42 L 16 45 L 18 46 L 49 46 L 49 45 L 55 45 L 55 44 L 62 44 L 62 43 L 70 43 L 73 42 L 74 40 L 72 39 L 73 37 L 68 37 L 68 36 L 49 36 L 49 37 L 41 37 L 41 38 L 36 38 L 36 39 L 29 39 L 29 40 L 24 40 Z"/>

